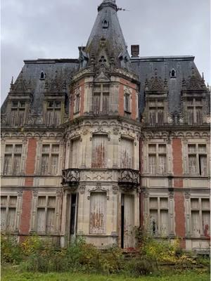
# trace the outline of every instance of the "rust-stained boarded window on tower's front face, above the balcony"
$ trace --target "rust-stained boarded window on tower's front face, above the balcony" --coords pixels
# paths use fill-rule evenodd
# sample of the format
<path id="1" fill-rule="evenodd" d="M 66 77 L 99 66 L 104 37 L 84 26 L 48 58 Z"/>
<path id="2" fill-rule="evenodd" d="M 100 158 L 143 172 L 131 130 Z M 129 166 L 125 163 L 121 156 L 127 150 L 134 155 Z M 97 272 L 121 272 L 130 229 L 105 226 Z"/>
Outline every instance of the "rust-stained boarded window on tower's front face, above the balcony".
<path id="1" fill-rule="evenodd" d="M 106 168 L 107 164 L 107 141 L 106 135 L 95 135 L 92 138 L 91 167 Z"/>

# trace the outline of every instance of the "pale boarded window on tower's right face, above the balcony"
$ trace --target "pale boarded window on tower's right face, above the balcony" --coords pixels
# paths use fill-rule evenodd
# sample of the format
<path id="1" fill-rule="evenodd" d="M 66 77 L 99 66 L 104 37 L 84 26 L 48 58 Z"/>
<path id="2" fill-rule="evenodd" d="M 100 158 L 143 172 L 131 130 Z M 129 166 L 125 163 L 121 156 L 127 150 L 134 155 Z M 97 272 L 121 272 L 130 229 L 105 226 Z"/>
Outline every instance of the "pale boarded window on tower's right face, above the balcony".
<path id="1" fill-rule="evenodd" d="M 133 169 L 134 166 L 134 141 L 127 138 L 121 139 L 120 167 Z"/>

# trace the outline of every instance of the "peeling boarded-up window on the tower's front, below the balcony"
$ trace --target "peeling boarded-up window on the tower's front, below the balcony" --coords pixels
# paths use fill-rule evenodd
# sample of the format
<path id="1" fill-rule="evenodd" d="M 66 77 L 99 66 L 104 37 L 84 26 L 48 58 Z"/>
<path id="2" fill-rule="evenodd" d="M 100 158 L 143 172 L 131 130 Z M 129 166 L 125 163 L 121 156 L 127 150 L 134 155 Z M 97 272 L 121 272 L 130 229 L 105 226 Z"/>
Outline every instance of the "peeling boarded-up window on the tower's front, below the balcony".
<path id="1" fill-rule="evenodd" d="M 92 192 L 90 197 L 89 233 L 106 234 L 106 193 Z"/>

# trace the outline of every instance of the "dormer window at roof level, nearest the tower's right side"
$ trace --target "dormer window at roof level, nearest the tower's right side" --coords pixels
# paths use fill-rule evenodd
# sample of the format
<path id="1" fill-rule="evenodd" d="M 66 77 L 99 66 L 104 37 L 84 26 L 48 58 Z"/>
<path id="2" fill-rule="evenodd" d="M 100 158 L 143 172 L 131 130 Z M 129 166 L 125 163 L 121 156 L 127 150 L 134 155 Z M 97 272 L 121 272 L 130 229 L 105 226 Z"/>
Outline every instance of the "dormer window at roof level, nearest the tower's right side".
<path id="1" fill-rule="evenodd" d="M 165 123 L 165 109 L 162 101 L 154 100 L 149 103 L 149 124 L 163 125 Z"/>

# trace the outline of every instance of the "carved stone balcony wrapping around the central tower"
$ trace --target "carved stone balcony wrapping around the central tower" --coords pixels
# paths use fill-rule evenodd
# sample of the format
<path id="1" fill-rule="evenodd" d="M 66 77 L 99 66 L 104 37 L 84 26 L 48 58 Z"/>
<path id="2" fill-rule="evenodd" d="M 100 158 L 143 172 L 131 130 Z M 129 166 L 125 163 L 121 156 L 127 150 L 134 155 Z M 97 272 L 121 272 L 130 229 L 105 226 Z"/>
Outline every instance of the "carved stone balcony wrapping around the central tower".
<path id="1" fill-rule="evenodd" d="M 86 182 L 116 182 L 121 187 L 130 189 L 139 185 L 139 170 L 134 169 L 65 169 L 63 170 L 63 185 L 77 186 Z"/>

